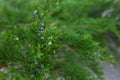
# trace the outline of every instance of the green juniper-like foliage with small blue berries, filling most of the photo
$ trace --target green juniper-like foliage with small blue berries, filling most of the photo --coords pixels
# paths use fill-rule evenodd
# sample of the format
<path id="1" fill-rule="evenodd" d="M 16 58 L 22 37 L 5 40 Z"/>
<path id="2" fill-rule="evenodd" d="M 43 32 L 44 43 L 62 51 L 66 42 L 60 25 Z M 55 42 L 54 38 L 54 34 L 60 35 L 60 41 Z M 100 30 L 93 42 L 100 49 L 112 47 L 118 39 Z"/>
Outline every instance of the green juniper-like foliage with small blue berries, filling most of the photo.
<path id="1" fill-rule="evenodd" d="M 0 0 L 0 67 L 7 67 L 0 78 L 104 80 L 100 61 L 116 62 L 106 36 L 120 37 L 114 15 L 101 17 L 111 5 L 113 0 Z"/>

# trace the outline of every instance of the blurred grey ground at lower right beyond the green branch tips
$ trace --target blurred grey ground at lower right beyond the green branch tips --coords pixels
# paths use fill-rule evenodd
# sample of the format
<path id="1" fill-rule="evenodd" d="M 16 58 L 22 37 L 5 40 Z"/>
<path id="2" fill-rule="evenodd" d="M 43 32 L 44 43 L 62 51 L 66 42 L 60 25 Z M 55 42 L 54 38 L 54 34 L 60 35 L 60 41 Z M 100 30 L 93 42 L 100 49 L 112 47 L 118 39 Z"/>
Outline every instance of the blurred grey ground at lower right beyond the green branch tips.
<path id="1" fill-rule="evenodd" d="M 120 40 L 116 40 L 113 36 L 107 36 L 107 40 L 113 50 L 110 49 L 109 53 L 115 55 L 118 61 L 116 64 L 101 62 L 104 67 L 104 77 L 105 80 L 120 80 Z"/>

